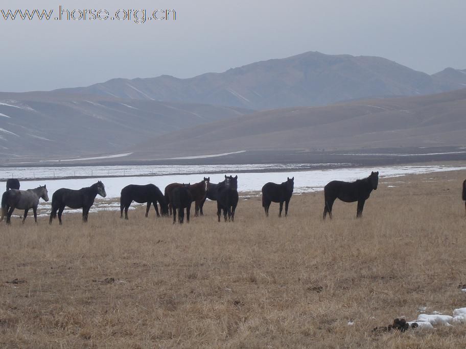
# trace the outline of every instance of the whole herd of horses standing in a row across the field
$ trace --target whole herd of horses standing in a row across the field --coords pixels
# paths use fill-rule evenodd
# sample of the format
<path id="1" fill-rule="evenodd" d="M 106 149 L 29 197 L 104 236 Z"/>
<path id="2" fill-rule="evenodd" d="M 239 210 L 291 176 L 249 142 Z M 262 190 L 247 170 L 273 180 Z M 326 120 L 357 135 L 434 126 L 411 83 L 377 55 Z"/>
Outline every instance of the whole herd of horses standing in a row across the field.
<path id="1" fill-rule="evenodd" d="M 357 202 L 356 217 L 362 216 L 365 201 L 369 198 L 372 190 L 376 190 L 379 183 L 379 172 L 372 171 L 367 178 L 356 180 L 354 182 L 332 181 L 324 187 L 324 209 L 323 219 L 329 214 L 332 218 L 332 207 L 338 198 L 345 203 Z M 24 210 L 22 222 L 24 223 L 30 209 L 33 210 L 34 220 L 37 223 L 37 206 L 39 199 L 49 201 L 49 195 L 46 186 L 39 186 L 35 189 L 19 190 L 20 183 L 17 179 L 7 180 L 7 190 L 2 195 L 2 216 L 0 221 L 6 217 L 6 223 L 11 222 L 11 215 L 15 209 Z M 266 183 L 262 187 L 262 207 L 265 215 L 269 215 L 271 203 L 279 204 L 279 216 L 282 216 L 283 204 L 285 203 L 285 216 L 288 215 L 288 205 L 294 190 L 294 177 L 287 178 L 283 183 Z M 62 224 L 61 216 L 65 207 L 72 209 L 82 208 L 82 220 L 87 222 L 89 209 L 94 205 L 95 198 L 99 194 L 105 197 L 105 186 L 101 181 L 92 184 L 90 187 L 78 190 L 61 188 L 52 195 L 52 210 L 50 213 L 49 223 L 52 224 L 53 218 L 57 217 L 60 225 Z M 160 189 L 154 184 L 135 185 L 130 184 L 124 187 L 120 197 L 120 217 L 128 219 L 128 209 L 131 203 L 147 203 L 146 217 L 149 214 L 151 205 L 154 206 L 157 217 L 169 216 L 173 214 L 173 223 L 176 222 L 178 212 L 178 222 L 183 223 L 184 211 L 186 211 L 186 220 L 190 221 L 192 203 L 195 203 L 195 216 L 203 215 L 203 206 L 206 199 L 217 202 L 217 217 L 220 217 L 223 211 L 225 221 L 235 220 L 235 210 L 238 205 L 238 176 L 226 176 L 220 183 L 211 183 L 210 177 L 195 184 L 172 183 L 165 188 L 162 194 Z M 466 180 L 462 187 L 462 200 L 465 202 L 466 209 Z M 160 213 L 157 204 L 160 206 Z"/>

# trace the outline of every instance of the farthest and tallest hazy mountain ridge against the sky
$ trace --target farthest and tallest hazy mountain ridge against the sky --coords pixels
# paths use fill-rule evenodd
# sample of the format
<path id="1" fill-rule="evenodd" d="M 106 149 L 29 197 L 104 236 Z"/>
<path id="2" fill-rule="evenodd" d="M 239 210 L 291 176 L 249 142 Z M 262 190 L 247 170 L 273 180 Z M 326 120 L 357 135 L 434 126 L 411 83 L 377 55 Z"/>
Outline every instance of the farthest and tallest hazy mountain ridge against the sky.
<path id="1" fill-rule="evenodd" d="M 113 79 L 59 91 L 264 110 L 439 93 L 464 88 L 463 74 L 448 68 L 430 76 L 380 57 L 307 52 L 190 79 Z"/>

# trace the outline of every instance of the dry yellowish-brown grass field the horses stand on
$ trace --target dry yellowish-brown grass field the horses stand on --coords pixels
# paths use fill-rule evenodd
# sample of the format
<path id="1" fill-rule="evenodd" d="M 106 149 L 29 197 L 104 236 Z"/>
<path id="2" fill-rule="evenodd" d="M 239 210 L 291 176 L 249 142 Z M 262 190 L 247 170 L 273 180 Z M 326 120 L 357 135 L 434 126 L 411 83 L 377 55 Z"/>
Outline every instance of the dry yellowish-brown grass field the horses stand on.
<path id="1" fill-rule="evenodd" d="M 466 171 L 381 179 L 356 203 L 260 197 L 236 221 L 172 225 L 144 209 L 0 226 L 1 347 L 465 347 L 466 325 L 375 333 L 466 307 Z M 389 187 L 394 186 L 394 187 Z M 354 321 L 354 325 L 348 325 Z"/>

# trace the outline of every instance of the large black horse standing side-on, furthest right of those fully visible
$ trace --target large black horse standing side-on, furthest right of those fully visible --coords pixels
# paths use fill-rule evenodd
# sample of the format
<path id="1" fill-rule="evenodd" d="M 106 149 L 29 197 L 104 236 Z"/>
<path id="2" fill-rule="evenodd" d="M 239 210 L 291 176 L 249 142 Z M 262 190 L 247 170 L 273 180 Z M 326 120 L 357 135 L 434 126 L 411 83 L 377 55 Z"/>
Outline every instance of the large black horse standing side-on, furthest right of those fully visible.
<path id="1" fill-rule="evenodd" d="M 369 198 L 372 189 L 377 190 L 379 184 L 379 171 L 370 173 L 370 176 L 355 182 L 332 181 L 324 188 L 325 207 L 323 209 L 323 219 L 329 216 L 332 219 L 332 206 L 338 197 L 345 203 L 358 202 L 356 217 L 362 216 L 362 209 L 365 201 Z"/>

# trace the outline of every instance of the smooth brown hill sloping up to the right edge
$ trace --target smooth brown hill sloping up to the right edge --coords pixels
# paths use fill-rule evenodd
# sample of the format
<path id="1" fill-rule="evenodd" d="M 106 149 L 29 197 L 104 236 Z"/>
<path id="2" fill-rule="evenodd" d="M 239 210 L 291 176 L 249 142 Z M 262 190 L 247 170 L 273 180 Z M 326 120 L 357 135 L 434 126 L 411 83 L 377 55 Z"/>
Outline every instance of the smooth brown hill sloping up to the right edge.
<path id="1" fill-rule="evenodd" d="M 132 157 L 272 149 L 466 145 L 466 89 L 257 112 L 154 138 Z M 154 144 L 157 144 L 155 146 Z"/>

